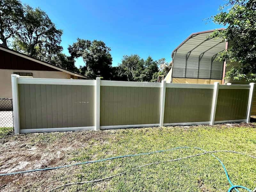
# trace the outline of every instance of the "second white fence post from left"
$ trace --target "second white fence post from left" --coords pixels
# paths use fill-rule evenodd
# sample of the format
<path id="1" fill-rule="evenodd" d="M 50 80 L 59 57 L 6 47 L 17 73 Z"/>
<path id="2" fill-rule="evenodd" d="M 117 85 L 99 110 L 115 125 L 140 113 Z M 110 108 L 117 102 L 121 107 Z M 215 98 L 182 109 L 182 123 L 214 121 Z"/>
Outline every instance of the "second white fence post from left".
<path id="1" fill-rule="evenodd" d="M 95 131 L 100 130 L 100 77 L 95 81 Z"/>

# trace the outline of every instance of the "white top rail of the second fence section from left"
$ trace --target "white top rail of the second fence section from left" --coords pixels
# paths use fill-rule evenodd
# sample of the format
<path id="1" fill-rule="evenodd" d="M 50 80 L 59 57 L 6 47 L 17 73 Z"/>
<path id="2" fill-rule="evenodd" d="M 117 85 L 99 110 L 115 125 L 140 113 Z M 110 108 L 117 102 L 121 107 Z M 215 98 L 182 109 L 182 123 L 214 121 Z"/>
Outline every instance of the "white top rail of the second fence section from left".
<path id="1" fill-rule="evenodd" d="M 120 86 L 120 87 L 162 87 L 161 83 L 152 82 L 133 82 L 133 81 L 100 81 L 101 86 Z"/>

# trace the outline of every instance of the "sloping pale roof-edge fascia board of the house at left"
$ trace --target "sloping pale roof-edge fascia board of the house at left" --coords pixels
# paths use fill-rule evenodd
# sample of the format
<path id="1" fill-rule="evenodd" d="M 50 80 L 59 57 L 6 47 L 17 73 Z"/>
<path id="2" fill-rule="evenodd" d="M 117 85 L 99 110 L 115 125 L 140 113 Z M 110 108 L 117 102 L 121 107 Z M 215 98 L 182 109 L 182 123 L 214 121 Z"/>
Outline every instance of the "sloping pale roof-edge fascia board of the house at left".
<path id="1" fill-rule="evenodd" d="M 23 58 L 28 59 L 28 60 L 31 60 L 31 61 L 35 61 L 35 62 L 40 63 L 40 64 L 42 64 L 42 65 L 45 65 L 45 66 L 48 66 L 48 67 L 51 67 L 51 68 L 57 69 L 57 70 L 59 70 L 59 71 L 62 71 L 62 72 L 65 72 L 65 73 L 71 74 L 71 75 L 73 75 L 73 76 L 82 77 L 82 78 L 87 78 L 86 76 L 83 76 L 83 75 L 79 75 L 79 74 L 76 74 L 76 73 L 70 72 L 70 71 L 68 71 L 68 70 L 65 70 L 65 69 L 59 68 L 59 67 L 54 66 L 54 65 L 50 65 L 50 64 L 45 63 L 45 62 L 43 62 L 43 61 L 39 61 L 39 60 L 33 59 L 33 58 L 31 58 L 31 57 L 28 57 L 28 56 L 26 56 L 26 55 L 23 55 L 23 54 L 20 54 L 20 53 L 14 52 L 14 51 L 9 50 L 9 49 L 5 49 L 5 48 L 3 48 L 3 47 L 0 47 L 0 50 L 3 50 L 3 51 L 5 51 L 5 52 L 12 53 L 12 54 L 14 54 L 14 55 L 18 55 L 18 56 L 20 56 L 20 57 L 23 57 Z"/>

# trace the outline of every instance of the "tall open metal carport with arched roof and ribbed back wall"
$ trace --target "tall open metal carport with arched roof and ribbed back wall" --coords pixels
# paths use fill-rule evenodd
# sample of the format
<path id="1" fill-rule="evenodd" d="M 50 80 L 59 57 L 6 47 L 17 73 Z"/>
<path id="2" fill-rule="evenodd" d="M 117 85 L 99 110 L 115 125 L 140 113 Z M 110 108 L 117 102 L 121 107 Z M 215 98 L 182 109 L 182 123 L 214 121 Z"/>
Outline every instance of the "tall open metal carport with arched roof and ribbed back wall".
<path id="1" fill-rule="evenodd" d="M 216 30 L 224 30 L 224 28 Z M 223 61 L 215 61 L 215 58 L 225 50 L 226 42 L 222 38 L 209 37 L 213 31 L 192 33 L 173 50 L 172 77 L 222 78 Z"/>

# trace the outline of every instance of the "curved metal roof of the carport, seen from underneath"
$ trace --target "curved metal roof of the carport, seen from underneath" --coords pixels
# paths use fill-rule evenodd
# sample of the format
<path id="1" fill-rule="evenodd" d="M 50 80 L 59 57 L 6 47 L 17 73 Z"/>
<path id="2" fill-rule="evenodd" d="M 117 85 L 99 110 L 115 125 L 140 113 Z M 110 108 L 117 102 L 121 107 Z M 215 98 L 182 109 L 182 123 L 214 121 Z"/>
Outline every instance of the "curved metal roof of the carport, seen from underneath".
<path id="1" fill-rule="evenodd" d="M 218 28 L 215 30 L 224 30 L 225 28 Z M 209 38 L 208 36 L 215 30 L 201 31 L 192 33 L 172 52 L 172 58 L 176 53 L 198 56 L 209 56 L 224 51 L 226 42 L 222 38 Z"/>

